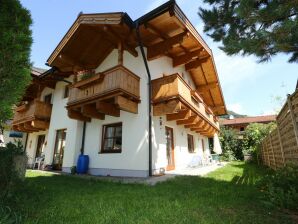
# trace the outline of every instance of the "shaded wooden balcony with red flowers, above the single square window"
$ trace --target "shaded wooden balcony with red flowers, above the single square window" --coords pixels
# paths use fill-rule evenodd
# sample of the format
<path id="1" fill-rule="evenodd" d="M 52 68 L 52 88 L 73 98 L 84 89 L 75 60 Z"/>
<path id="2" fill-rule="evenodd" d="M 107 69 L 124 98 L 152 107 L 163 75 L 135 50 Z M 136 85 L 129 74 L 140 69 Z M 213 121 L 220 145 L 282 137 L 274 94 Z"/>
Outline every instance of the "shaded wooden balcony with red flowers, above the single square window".
<path id="1" fill-rule="evenodd" d="M 68 116 L 90 121 L 105 115 L 120 116 L 120 110 L 138 113 L 140 77 L 122 65 L 81 80 L 69 89 Z"/>

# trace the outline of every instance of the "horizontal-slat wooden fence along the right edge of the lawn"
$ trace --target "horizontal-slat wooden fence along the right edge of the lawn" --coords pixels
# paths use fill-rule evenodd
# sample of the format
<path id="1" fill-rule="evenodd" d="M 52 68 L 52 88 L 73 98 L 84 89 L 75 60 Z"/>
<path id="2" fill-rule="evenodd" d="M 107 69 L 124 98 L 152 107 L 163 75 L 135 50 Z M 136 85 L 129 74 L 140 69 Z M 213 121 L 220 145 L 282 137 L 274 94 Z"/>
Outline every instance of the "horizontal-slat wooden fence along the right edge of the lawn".
<path id="1" fill-rule="evenodd" d="M 298 164 L 298 90 L 288 95 L 276 122 L 277 128 L 262 142 L 263 163 L 273 169 Z"/>

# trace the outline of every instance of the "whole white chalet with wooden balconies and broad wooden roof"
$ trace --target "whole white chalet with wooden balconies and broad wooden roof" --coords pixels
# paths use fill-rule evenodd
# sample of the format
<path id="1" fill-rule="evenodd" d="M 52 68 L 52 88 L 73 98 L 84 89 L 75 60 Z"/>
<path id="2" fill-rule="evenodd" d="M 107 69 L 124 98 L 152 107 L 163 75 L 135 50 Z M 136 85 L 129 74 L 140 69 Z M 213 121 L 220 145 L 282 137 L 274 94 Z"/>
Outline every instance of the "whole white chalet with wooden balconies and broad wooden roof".
<path id="1" fill-rule="evenodd" d="M 83 152 L 92 175 L 146 177 L 200 163 L 208 138 L 220 152 L 213 55 L 175 1 L 136 21 L 80 14 L 47 64 L 12 123 L 28 133 L 29 165 L 44 153 L 70 172 Z"/>

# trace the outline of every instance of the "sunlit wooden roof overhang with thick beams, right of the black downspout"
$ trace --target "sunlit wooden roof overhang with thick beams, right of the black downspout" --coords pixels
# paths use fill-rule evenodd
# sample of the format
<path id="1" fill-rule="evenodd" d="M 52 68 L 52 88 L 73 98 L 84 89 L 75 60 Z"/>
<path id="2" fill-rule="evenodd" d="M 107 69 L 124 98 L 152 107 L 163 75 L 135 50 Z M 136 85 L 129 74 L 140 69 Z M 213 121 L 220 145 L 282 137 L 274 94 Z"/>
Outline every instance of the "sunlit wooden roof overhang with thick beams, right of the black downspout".
<path id="1" fill-rule="evenodd" d="M 147 59 L 173 59 L 173 67 L 185 65 L 197 92 L 216 115 L 227 113 L 211 49 L 175 1 L 169 1 L 135 21 L 140 27 Z"/>

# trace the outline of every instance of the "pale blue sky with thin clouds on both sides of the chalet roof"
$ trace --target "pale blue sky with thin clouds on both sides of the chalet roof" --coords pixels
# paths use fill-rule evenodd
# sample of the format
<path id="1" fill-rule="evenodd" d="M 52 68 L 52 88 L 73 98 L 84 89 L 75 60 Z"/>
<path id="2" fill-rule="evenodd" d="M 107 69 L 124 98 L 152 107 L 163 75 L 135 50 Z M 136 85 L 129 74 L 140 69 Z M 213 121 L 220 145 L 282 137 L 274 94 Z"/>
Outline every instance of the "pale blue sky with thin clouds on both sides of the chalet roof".
<path id="1" fill-rule="evenodd" d="M 77 15 L 97 12 L 127 12 L 135 20 L 166 0 L 21 0 L 31 11 L 34 66 L 46 68 L 45 62 Z M 177 0 L 186 16 L 213 51 L 227 108 L 248 115 L 271 114 L 279 103 L 274 97 L 285 97 L 296 86 L 298 64 L 287 63 L 286 55 L 278 55 L 268 63 L 258 64 L 254 57 L 229 57 L 219 44 L 203 33 L 197 15 L 200 0 Z"/>

